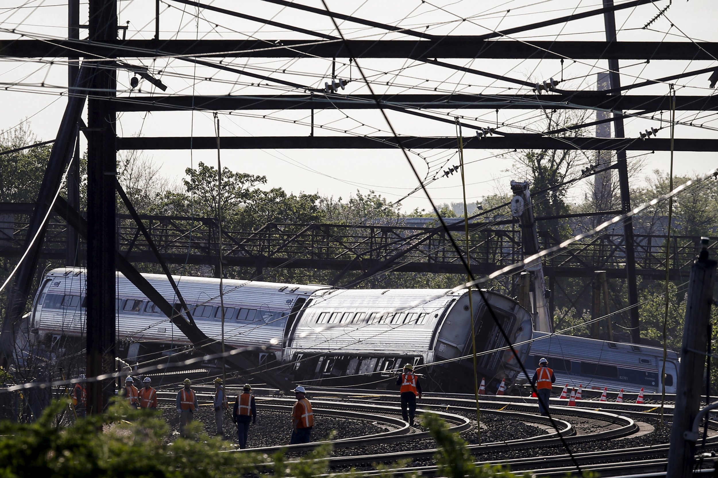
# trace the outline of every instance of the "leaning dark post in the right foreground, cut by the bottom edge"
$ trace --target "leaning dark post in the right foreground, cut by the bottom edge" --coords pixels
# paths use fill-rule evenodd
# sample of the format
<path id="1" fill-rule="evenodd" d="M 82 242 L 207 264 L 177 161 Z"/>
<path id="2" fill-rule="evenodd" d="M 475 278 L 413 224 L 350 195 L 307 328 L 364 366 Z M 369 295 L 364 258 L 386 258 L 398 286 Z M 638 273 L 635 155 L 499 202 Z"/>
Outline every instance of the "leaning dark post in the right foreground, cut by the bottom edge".
<path id="1" fill-rule="evenodd" d="M 676 407 L 673 408 L 671 449 L 668 451 L 667 478 L 692 475 L 696 454 L 695 441 L 686 440 L 701 401 L 704 365 L 706 363 L 706 330 L 713 305 L 713 284 L 716 261 L 708 258 L 708 238 L 701 238 L 701 253 L 691 267 L 686 300 L 686 320 L 681 347 L 681 368 L 676 388 Z"/>

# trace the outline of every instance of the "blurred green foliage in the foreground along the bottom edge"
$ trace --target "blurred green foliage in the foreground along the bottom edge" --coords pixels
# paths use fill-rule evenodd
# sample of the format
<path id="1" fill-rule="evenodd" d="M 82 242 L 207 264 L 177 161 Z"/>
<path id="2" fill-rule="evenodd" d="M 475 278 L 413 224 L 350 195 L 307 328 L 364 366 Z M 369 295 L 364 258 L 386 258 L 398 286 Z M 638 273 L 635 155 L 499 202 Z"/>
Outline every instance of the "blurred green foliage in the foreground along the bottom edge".
<path id="1" fill-rule="evenodd" d="M 273 456 L 236 452 L 227 441 L 208 436 L 199 421 L 187 426 L 191 438 L 172 442 L 167 423 L 157 413 L 129 408 L 123 400 L 105 415 L 59 426 L 57 416 L 66 409 L 67 403 L 57 401 L 34 423 L 0 421 L 1 478 L 310 478 L 327 473 L 332 451 L 327 443 L 292 460 L 281 451 Z M 423 419 L 439 445 L 437 464 L 442 476 L 515 476 L 498 467 L 476 467 L 465 442 L 446 423 L 431 414 Z M 396 466 L 381 467 L 381 474 L 390 476 L 388 469 Z M 353 469 L 332 474 L 335 478 L 358 476 Z"/>

